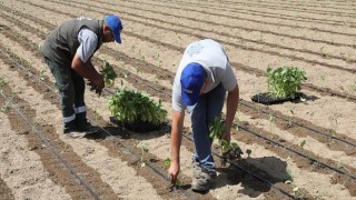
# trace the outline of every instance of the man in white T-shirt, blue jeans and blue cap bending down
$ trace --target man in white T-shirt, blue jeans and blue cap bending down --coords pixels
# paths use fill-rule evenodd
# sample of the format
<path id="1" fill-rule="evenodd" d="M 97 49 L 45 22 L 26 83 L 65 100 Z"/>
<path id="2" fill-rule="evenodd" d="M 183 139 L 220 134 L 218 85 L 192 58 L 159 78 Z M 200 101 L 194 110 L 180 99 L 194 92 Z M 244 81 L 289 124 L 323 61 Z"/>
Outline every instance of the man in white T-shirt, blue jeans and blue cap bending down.
<path id="1" fill-rule="evenodd" d="M 226 93 L 226 129 L 222 139 L 230 141 L 239 88 L 229 59 L 222 47 L 211 39 L 190 43 L 180 60 L 172 88 L 171 164 L 168 169 L 172 182 L 180 170 L 179 151 L 187 110 L 195 143 L 191 189 L 200 192 L 211 188 L 217 173 L 211 154 L 209 124 L 220 117 Z"/>

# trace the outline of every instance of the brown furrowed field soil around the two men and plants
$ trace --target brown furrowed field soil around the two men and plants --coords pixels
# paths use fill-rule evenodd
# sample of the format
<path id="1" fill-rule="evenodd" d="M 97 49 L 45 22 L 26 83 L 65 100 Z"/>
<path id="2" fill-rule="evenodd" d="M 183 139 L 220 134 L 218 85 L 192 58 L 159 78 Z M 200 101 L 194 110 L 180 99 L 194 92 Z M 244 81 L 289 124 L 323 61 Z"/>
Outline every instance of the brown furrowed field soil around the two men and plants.
<path id="1" fill-rule="evenodd" d="M 353 1 L 328 0 L 1 1 L 0 199 L 356 199 L 354 8 Z M 67 138 L 38 47 L 65 20 L 107 13 L 122 19 L 122 43 L 105 43 L 92 63 L 100 69 L 107 60 L 118 79 L 101 97 L 86 92 L 88 118 L 102 129 Z M 181 186 L 171 190 L 164 166 L 170 114 L 159 130 L 137 133 L 110 122 L 107 100 L 127 87 L 161 99 L 170 112 L 182 51 L 202 38 L 224 46 L 238 78 L 233 140 L 244 154 L 224 167 L 214 144 L 218 179 L 209 192 L 196 193 L 188 114 Z M 266 92 L 267 67 L 280 66 L 307 72 L 306 101 L 254 102 L 254 94 Z"/>

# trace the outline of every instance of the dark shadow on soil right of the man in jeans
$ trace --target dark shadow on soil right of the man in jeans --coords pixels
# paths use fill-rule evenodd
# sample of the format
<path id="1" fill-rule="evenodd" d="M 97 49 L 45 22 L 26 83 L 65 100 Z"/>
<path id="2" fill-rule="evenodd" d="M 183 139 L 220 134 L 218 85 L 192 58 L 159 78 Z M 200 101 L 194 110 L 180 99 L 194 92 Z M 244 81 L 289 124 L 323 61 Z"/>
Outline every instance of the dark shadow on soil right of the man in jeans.
<path id="1" fill-rule="evenodd" d="M 286 180 L 291 180 L 291 177 L 286 172 L 287 163 L 275 157 L 257 159 L 247 158 L 235 163 L 271 184 L 276 184 L 278 182 L 284 183 Z M 221 188 L 226 184 L 240 184 L 243 189 L 237 191 L 237 193 L 243 193 L 251 198 L 256 198 L 260 193 L 265 193 L 270 190 L 270 186 L 268 183 L 263 182 L 237 166 L 230 164 L 227 168 L 217 169 L 221 173 L 218 177 L 215 188 Z M 265 166 L 265 169 L 268 167 L 268 172 L 257 166 Z"/>

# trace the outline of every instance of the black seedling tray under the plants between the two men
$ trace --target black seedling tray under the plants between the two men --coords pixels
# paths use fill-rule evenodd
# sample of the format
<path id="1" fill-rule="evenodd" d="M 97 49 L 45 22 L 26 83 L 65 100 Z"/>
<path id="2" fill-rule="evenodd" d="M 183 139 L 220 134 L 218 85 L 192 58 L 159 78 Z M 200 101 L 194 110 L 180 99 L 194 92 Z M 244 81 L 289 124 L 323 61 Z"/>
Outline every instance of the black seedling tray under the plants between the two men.
<path id="1" fill-rule="evenodd" d="M 110 117 L 110 122 L 116 126 L 123 127 L 130 131 L 140 132 L 140 133 L 156 131 L 162 127 L 162 124 L 152 124 L 148 122 L 132 122 L 132 123 L 122 122 L 117 120 L 115 117 Z"/>

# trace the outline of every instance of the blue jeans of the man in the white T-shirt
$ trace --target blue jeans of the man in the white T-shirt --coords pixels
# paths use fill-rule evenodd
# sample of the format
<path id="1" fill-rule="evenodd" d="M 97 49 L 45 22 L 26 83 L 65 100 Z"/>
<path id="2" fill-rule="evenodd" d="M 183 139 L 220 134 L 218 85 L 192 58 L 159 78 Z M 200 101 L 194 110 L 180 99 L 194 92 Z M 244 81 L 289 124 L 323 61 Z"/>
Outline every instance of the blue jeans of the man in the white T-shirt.
<path id="1" fill-rule="evenodd" d="M 200 94 L 198 102 L 187 108 L 190 114 L 192 138 L 196 147 L 192 159 L 208 170 L 215 170 L 209 124 L 216 117 L 221 114 L 225 94 L 226 90 L 220 83 L 208 93 Z"/>

